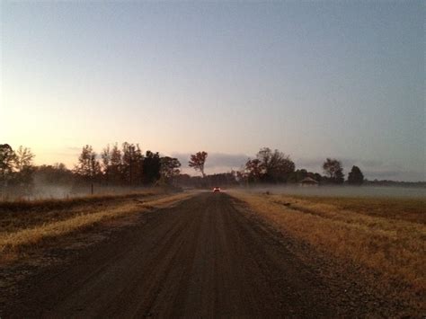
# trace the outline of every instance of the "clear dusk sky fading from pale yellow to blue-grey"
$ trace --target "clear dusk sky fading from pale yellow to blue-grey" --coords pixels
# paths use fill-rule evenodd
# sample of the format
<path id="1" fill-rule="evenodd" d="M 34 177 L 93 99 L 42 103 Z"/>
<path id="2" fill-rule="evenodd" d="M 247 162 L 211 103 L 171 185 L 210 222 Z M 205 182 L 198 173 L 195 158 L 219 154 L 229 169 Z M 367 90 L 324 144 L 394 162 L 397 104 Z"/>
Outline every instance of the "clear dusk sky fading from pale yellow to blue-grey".
<path id="1" fill-rule="evenodd" d="M 218 173 L 269 146 L 313 172 L 333 157 L 371 180 L 426 180 L 423 1 L 0 10 L 0 143 L 36 164 L 128 141 L 183 166 L 207 151 Z"/>

